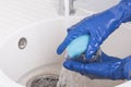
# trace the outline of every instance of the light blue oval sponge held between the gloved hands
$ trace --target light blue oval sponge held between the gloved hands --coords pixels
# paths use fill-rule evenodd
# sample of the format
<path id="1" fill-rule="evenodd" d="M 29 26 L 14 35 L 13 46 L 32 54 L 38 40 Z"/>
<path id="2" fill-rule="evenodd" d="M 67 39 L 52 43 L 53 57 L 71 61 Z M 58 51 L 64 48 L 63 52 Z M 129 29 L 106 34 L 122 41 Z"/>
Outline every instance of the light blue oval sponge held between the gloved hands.
<path id="1" fill-rule="evenodd" d="M 90 40 L 88 35 L 83 35 L 74 39 L 67 48 L 70 58 L 76 58 L 85 52 Z"/>

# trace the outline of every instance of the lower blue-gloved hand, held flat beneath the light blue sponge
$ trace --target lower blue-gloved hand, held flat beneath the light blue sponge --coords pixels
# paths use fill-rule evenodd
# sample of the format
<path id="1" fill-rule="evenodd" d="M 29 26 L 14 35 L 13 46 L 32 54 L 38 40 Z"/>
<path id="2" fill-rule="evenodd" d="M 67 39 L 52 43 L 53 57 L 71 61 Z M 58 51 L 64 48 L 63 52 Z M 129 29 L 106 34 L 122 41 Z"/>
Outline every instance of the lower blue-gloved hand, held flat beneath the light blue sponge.
<path id="1" fill-rule="evenodd" d="M 103 53 L 97 62 L 67 60 L 63 66 L 91 78 L 131 79 L 131 57 L 122 60 Z"/>

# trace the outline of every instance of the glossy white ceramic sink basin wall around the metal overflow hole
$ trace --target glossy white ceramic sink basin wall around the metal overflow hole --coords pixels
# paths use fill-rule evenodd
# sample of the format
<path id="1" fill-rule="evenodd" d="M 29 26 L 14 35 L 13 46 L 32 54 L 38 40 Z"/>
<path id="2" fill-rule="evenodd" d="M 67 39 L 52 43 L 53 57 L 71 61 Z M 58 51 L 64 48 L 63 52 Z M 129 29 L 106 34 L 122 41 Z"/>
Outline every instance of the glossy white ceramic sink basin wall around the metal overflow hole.
<path id="1" fill-rule="evenodd" d="M 7 39 L 0 44 L 0 71 L 2 72 L 2 76 L 5 75 L 17 87 L 20 85 L 20 80 L 22 78 L 33 72 L 37 67 L 41 67 L 43 72 L 50 71 L 52 73 L 59 74 L 61 69 L 61 62 L 64 59 L 63 54 L 58 55 L 56 53 L 56 49 L 59 44 L 66 37 L 67 27 L 71 26 L 72 24 L 79 22 L 83 17 L 81 16 L 70 16 L 70 17 L 56 17 L 47 21 L 41 21 L 39 23 L 35 23 L 23 27 L 13 34 L 10 34 L 10 37 L 5 37 Z M 102 49 L 115 57 L 124 58 L 131 54 L 131 24 L 122 25 L 118 30 L 116 30 L 102 46 Z M 24 37 L 26 38 L 27 45 L 25 49 L 19 48 L 19 40 Z M 56 64 L 55 66 L 48 67 L 50 64 Z M 37 71 L 35 71 L 37 72 Z M 43 73 L 40 71 L 40 73 Z M 39 73 L 37 73 L 39 74 Z M 34 76 L 32 74 L 31 76 Z M 2 78 L 0 78 L 2 80 Z M 7 82 L 7 79 L 2 80 Z M 90 80 L 91 82 L 91 80 Z M 107 85 L 110 84 L 116 85 L 123 83 L 122 80 L 119 82 L 111 82 L 111 80 L 95 80 L 97 83 L 102 83 L 100 85 L 106 82 Z M 2 85 L 3 83 L 0 83 Z M 22 83 L 21 83 L 22 84 Z M 90 83 L 88 83 L 90 85 Z M 93 85 L 93 84 L 92 84 Z M 95 83 L 94 83 L 95 85 Z M 102 87 L 97 86 L 97 87 Z M 3 87 L 11 87 L 9 85 L 4 85 Z M 23 86 L 25 87 L 25 86 Z M 93 86 L 90 86 L 93 87 Z"/>

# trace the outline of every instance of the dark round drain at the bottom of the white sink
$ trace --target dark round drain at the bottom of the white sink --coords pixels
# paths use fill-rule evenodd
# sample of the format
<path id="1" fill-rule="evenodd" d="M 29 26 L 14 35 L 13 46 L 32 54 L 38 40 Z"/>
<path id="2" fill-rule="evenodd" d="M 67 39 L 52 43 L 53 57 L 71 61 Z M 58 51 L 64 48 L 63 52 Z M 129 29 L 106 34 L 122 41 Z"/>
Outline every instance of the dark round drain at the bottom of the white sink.
<path id="1" fill-rule="evenodd" d="M 40 75 L 31 78 L 26 87 L 57 87 L 58 75 Z"/>

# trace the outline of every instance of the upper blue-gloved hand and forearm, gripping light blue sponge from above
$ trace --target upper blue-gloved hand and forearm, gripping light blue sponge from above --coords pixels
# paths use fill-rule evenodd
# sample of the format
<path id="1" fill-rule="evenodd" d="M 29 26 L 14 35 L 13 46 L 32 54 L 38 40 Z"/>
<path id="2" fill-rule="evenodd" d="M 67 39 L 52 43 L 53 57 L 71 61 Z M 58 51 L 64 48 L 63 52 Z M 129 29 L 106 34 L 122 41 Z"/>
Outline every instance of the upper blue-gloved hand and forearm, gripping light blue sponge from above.
<path id="1" fill-rule="evenodd" d="M 121 23 L 129 21 L 131 21 L 131 0 L 122 0 L 117 5 L 86 17 L 70 27 L 66 39 L 57 49 L 57 53 L 61 54 L 73 39 L 82 35 L 90 35 L 90 42 L 85 51 L 85 57 L 90 60 L 95 55 L 103 41 L 118 28 Z"/>

